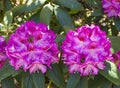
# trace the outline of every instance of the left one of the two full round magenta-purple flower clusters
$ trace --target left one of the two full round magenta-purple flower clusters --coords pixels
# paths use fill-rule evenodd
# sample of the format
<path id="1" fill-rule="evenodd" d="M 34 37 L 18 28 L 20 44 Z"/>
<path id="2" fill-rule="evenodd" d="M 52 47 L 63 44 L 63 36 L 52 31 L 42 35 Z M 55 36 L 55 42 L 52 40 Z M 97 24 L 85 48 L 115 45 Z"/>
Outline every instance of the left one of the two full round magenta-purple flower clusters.
<path id="1" fill-rule="evenodd" d="M 38 70 L 45 73 L 47 67 L 59 61 L 55 39 L 54 32 L 44 24 L 35 24 L 33 21 L 22 24 L 11 34 L 6 47 L 10 64 L 16 70 L 22 67 L 30 73 Z"/>

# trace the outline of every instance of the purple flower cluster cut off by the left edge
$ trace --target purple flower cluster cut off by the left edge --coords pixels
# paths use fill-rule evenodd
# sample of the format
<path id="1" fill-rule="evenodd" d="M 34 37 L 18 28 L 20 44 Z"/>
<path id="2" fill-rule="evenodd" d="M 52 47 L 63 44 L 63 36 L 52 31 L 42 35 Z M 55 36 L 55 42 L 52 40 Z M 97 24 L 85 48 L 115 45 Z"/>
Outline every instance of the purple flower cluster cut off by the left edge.
<path id="1" fill-rule="evenodd" d="M 6 54 L 5 54 L 5 47 L 6 47 L 6 41 L 3 36 L 0 36 L 0 68 L 4 65 L 6 61 Z"/>

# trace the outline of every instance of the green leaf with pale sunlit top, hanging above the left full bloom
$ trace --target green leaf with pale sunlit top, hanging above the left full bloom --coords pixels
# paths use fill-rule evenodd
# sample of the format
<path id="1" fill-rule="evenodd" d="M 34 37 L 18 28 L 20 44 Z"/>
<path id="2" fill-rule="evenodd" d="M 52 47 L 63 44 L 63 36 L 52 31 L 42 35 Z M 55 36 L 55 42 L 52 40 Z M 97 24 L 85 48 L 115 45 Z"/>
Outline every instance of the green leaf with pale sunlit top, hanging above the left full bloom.
<path id="1" fill-rule="evenodd" d="M 50 4 L 46 4 L 40 12 L 40 21 L 42 23 L 49 25 L 52 15 L 53 15 L 53 6 Z"/>

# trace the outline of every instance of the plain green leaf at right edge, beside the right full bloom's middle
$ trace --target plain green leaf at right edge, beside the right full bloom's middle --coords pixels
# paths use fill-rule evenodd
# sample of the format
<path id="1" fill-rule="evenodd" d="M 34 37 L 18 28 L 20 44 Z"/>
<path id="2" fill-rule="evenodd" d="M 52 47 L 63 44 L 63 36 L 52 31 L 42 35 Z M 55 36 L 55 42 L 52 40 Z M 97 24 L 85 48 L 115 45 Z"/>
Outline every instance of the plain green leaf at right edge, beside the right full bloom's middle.
<path id="1" fill-rule="evenodd" d="M 108 36 L 110 38 L 112 48 L 115 52 L 120 50 L 120 37 L 118 36 Z"/>

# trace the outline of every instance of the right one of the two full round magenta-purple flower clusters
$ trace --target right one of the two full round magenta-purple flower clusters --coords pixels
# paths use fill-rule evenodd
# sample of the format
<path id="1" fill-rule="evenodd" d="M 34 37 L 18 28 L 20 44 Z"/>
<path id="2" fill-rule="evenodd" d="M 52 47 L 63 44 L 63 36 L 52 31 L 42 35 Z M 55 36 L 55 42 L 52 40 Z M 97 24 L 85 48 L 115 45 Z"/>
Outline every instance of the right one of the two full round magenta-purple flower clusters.
<path id="1" fill-rule="evenodd" d="M 86 76 L 105 68 L 104 61 L 111 57 L 110 46 L 104 31 L 96 25 L 86 25 L 70 30 L 61 48 L 69 72 Z"/>

